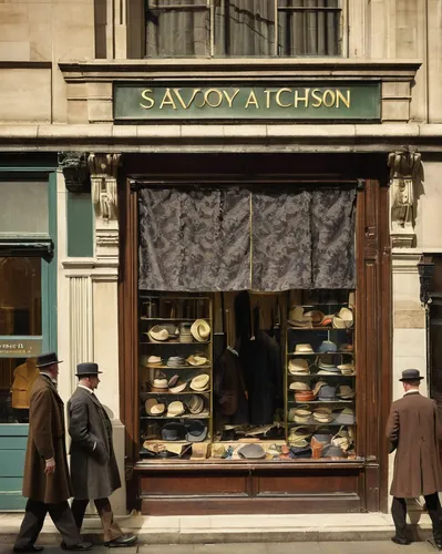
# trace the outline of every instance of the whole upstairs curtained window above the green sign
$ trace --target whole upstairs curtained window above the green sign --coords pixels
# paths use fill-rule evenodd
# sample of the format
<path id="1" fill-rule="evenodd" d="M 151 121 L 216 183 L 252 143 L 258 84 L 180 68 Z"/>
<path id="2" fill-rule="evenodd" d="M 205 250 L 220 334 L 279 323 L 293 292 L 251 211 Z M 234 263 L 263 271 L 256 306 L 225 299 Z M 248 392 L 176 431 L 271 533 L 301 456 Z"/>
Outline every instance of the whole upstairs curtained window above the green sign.
<path id="1" fill-rule="evenodd" d="M 340 55 L 340 0 L 146 0 L 148 58 Z"/>

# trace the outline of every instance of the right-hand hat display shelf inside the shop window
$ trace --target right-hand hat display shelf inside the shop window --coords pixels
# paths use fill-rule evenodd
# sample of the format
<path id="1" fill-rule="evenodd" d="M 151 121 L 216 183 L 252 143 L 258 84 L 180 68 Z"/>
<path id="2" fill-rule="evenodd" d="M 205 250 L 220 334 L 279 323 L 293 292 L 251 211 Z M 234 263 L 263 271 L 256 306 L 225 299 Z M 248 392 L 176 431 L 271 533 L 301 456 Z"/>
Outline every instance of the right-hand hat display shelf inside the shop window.
<path id="1" fill-rule="evenodd" d="M 342 458 L 351 458 L 357 440 L 354 295 L 339 290 L 321 291 L 321 296 L 326 299 L 291 305 L 288 309 L 285 371 L 287 440 L 289 444 L 294 438 L 304 441 L 308 449 L 318 431 L 330 437 L 339 432 L 351 437 L 349 452 L 342 450 Z M 345 297 L 347 301 L 340 301 Z M 302 440 L 298 438 L 298 428 L 305 430 Z M 317 451 L 312 449 L 312 452 Z M 312 459 L 327 461 L 329 455 L 312 454 Z"/>

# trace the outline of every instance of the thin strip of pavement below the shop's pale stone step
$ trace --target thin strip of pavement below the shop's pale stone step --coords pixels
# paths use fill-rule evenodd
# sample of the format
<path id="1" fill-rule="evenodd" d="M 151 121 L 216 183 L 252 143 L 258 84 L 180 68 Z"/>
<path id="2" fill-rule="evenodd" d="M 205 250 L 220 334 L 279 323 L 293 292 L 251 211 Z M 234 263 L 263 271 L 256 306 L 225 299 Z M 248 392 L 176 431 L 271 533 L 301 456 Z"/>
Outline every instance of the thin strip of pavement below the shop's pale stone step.
<path id="1" fill-rule="evenodd" d="M 309 542 L 309 543 L 230 543 L 230 544 L 177 544 L 167 546 L 167 554 L 435 554 L 428 543 L 399 546 L 391 541 L 366 542 Z M 11 546 L 0 545 L 0 554 L 9 554 Z M 94 546 L 91 554 L 164 554 L 164 545 L 142 545 L 129 548 Z M 42 554 L 66 554 L 59 546 L 45 546 Z"/>

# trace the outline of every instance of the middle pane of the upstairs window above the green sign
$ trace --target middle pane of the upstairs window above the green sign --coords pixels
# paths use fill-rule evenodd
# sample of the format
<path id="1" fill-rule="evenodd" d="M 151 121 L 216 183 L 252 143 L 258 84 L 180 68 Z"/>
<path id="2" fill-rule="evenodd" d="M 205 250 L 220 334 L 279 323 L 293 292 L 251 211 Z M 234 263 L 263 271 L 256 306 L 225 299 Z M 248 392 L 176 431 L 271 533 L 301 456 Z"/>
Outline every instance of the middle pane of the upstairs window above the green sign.
<path id="1" fill-rule="evenodd" d="M 275 0 L 217 0 L 216 55 L 275 55 Z"/>

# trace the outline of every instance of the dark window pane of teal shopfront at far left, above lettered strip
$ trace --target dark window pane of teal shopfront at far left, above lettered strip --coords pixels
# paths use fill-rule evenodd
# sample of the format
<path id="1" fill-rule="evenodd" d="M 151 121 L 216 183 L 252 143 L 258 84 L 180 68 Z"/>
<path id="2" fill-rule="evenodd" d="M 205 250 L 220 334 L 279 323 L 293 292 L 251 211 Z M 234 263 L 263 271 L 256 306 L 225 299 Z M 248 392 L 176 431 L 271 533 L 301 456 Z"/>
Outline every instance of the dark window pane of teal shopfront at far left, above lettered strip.
<path id="1" fill-rule="evenodd" d="M 40 258 L 0 257 L 0 335 L 41 335 Z"/>

